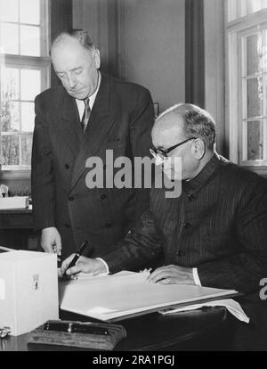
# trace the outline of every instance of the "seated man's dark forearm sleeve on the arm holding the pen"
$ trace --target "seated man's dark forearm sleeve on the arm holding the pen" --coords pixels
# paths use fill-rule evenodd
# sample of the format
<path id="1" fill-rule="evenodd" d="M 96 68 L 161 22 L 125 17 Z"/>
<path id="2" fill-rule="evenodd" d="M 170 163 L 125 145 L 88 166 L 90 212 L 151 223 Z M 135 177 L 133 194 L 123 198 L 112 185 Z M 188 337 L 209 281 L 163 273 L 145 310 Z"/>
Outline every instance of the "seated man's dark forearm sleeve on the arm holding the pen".
<path id="1" fill-rule="evenodd" d="M 125 239 L 117 242 L 116 248 L 103 257 L 112 274 L 121 270 L 140 271 L 156 265 L 163 248 L 150 209 L 142 214 Z"/>

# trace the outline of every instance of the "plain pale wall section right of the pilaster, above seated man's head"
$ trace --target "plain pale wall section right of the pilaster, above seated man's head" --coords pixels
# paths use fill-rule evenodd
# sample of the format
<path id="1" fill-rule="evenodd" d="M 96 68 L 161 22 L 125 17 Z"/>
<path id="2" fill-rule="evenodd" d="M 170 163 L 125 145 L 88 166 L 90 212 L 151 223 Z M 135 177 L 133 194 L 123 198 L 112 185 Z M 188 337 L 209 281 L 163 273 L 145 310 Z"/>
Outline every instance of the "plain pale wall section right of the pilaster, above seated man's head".
<path id="1" fill-rule="evenodd" d="M 121 1 L 121 75 L 164 110 L 184 101 L 184 0 Z"/>

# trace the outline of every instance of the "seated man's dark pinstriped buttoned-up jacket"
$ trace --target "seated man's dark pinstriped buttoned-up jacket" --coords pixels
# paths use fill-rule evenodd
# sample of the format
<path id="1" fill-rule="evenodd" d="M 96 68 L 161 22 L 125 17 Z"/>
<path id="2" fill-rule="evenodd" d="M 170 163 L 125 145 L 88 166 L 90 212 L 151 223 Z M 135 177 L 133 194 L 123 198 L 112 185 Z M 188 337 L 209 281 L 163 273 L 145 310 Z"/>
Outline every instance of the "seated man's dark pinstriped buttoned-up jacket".
<path id="1" fill-rule="evenodd" d="M 150 209 L 104 257 L 111 272 L 162 264 L 198 267 L 204 286 L 254 292 L 267 275 L 267 181 L 214 153 L 182 194 L 152 189 Z"/>

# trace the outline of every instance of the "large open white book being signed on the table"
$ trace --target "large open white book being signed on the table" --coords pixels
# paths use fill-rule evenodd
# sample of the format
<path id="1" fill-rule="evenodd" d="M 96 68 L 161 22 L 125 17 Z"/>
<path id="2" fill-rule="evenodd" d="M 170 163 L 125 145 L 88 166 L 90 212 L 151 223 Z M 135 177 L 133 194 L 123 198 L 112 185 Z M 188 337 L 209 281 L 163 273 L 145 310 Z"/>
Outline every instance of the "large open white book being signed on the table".
<path id="1" fill-rule="evenodd" d="M 149 271 L 120 272 L 116 275 L 81 277 L 61 282 L 61 309 L 113 322 L 166 307 L 181 307 L 196 301 L 222 299 L 238 294 L 234 290 L 149 283 L 149 274 Z"/>

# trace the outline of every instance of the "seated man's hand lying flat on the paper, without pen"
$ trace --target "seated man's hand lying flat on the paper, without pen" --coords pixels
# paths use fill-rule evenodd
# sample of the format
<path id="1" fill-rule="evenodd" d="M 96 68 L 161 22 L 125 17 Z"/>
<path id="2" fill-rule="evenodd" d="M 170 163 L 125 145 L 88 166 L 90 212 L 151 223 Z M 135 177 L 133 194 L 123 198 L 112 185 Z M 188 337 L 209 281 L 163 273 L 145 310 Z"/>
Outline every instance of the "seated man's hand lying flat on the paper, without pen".
<path id="1" fill-rule="evenodd" d="M 148 281 L 160 284 L 195 284 L 192 268 L 173 265 L 158 267 L 151 273 Z"/>

